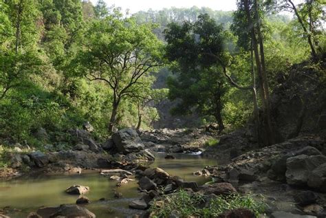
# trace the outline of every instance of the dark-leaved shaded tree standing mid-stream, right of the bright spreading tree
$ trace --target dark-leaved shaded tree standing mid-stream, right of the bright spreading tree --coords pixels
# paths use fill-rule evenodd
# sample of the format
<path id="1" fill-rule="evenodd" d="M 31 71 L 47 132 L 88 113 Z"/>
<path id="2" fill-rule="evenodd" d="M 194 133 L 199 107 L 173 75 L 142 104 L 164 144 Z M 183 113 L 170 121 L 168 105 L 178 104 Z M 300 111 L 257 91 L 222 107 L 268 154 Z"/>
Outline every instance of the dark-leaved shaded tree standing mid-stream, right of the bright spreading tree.
<path id="1" fill-rule="evenodd" d="M 202 14 L 195 23 L 169 24 L 165 34 L 166 56 L 175 62 L 173 70 L 177 72 L 168 80 L 169 98 L 181 99 L 173 112 L 192 113 L 196 109 L 203 116 L 213 116 L 222 131 L 221 111 L 228 86 L 217 57 L 224 55 L 223 28 Z"/>

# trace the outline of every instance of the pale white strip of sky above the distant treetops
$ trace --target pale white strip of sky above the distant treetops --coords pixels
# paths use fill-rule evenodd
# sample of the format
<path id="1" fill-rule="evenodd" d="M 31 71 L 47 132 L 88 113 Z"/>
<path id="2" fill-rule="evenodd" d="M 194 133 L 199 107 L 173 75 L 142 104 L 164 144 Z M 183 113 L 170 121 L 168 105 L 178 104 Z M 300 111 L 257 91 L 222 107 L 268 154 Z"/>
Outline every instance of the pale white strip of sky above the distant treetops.
<path id="1" fill-rule="evenodd" d="M 91 0 L 96 4 L 98 0 Z M 121 7 L 122 10 L 130 9 L 131 13 L 140 10 L 160 10 L 162 8 L 191 8 L 197 6 L 198 8 L 208 7 L 213 10 L 235 10 L 236 0 L 105 0 L 108 6 L 115 5 Z"/>

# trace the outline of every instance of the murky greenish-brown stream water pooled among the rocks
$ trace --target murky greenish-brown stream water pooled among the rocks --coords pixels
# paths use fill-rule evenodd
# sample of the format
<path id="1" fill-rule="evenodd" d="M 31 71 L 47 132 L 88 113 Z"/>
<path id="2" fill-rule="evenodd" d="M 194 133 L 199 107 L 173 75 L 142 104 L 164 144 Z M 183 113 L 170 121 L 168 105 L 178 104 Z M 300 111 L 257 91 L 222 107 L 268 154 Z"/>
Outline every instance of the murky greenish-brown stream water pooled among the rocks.
<path id="1" fill-rule="evenodd" d="M 204 166 L 216 164 L 215 160 L 209 160 L 199 155 L 177 154 L 175 160 L 165 160 L 164 155 L 158 153 L 157 159 L 151 164 L 151 167 L 163 168 L 171 175 L 178 175 L 186 181 L 195 181 L 198 184 L 204 184 L 208 179 L 195 177 L 192 173 Z M 116 188 L 116 182 L 98 173 L 21 177 L 0 182 L 0 208 L 10 206 L 10 210 L 13 208 L 17 210 L 11 211 L 8 215 L 25 218 L 29 212 L 35 212 L 41 206 L 75 204 L 78 196 L 67 195 L 64 190 L 73 184 L 80 184 L 90 187 L 86 196 L 91 200 L 91 204 L 86 207 L 94 212 L 96 217 L 129 217 L 141 212 L 128 208 L 129 202 L 140 196 L 136 182 L 129 182 L 129 184 L 118 188 L 123 198 L 114 199 L 113 188 Z M 99 201 L 102 197 L 105 198 L 105 201 Z"/>

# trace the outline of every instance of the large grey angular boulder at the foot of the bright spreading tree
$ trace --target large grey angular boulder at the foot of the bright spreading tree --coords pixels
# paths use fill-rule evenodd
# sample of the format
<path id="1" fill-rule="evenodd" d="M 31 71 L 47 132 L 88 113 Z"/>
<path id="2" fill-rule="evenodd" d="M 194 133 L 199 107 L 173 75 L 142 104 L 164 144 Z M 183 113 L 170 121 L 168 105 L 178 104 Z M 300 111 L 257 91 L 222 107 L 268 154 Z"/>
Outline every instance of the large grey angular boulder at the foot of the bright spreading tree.
<path id="1" fill-rule="evenodd" d="M 144 144 L 142 144 L 142 140 L 135 129 L 121 129 L 112 134 L 112 140 L 116 144 L 118 151 L 124 154 L 138 152 L 144 149 Z"/>

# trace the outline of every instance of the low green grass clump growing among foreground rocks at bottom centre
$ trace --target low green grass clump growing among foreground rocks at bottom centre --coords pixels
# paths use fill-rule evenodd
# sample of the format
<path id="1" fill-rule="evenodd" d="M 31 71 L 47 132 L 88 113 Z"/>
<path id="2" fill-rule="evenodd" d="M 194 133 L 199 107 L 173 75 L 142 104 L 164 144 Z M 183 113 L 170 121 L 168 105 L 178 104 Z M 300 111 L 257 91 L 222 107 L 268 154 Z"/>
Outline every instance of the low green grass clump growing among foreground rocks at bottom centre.
<path id="1" fill-rule="evenodd" d="M 265 204 L 261 200 L 255 199 L 252 195 L 232 194 L 219 196 L 210 201 L 208 207 L 200 208 L 199 205 L 205 204 L 204 196 L 197 193 L 187 193 L 179 190 L 173 195 L 165 195 L 163 199 L 155 201 L 150 210 L 153 217 L 169 217 L 174 211 L 178 212 L 179 217 L 217 217 L 228 210 L 237 208 L 247 208 L 252 210 L 255 215 L 262 214 Z"/>

